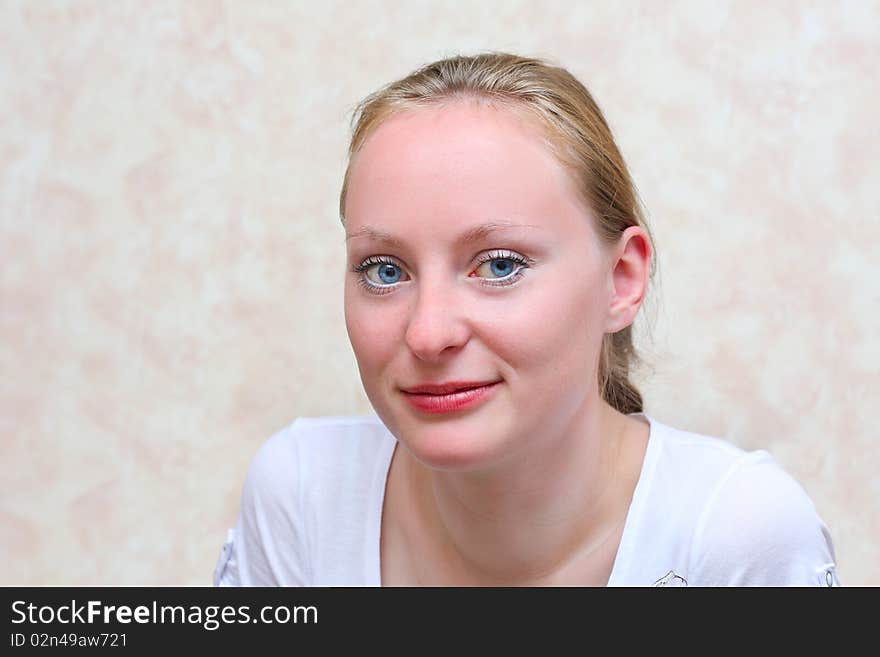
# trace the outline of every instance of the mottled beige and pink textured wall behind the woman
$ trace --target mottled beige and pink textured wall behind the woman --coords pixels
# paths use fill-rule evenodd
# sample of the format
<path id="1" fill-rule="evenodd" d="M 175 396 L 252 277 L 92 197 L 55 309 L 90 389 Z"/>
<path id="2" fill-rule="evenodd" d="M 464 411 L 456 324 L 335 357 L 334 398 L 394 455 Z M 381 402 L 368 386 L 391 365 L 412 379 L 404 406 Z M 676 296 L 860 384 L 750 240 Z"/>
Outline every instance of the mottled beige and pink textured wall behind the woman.
<path id="1" fill-rule="evenodd" d="M 0 584 L 208 584 L 257 446 L 371 412 L 349 112 L 483 49 L 568 67 L 631 166 L 648 412 L 768 449 L 880 584 L 880 4 L 699 0 L 0 2 Z"/>

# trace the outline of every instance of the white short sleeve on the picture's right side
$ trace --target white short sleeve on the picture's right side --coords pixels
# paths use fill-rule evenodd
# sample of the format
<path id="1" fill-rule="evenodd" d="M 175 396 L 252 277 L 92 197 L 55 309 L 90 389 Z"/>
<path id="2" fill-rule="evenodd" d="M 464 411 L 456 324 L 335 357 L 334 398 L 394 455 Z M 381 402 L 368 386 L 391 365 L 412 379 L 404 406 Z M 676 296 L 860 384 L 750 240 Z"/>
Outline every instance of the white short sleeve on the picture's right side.
<path id="1" fill-rule="evenodd" d="M 716 485 L 694 534 L 690 583 L 839 586 L 828 527 L 800 484 L 764 450 Z"/>

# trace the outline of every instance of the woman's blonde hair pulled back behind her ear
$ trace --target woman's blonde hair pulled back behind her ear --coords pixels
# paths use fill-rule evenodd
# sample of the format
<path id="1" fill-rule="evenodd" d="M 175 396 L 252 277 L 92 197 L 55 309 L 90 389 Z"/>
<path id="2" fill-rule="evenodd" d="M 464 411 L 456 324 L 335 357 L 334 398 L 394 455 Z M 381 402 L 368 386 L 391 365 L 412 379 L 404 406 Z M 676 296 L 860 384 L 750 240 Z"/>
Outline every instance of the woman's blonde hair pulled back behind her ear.
<path id="1" fill-rule="evenodd" d="M 640 226 L 654 240 L 623 156 L 590 92 L 571 73 L 545 59 L 488 51 L 441 59 L 391 82 L 354 108 L 348 167 L 339 197 L 345 225 L 345 198 L 354 156 L 385 120 L 405 110 L 472 100 L 525 111 L 539 120 L 547 147 L 573 176 L 586 207 L 593 209 L 596 231 L 606 245 L 623 231 Z M 642 396 L 630 382 L 641 362 L 632 340 L 632 325 L 605 334 L 599 356 L 599 391 L 621 413 L 642 412 Z"/>

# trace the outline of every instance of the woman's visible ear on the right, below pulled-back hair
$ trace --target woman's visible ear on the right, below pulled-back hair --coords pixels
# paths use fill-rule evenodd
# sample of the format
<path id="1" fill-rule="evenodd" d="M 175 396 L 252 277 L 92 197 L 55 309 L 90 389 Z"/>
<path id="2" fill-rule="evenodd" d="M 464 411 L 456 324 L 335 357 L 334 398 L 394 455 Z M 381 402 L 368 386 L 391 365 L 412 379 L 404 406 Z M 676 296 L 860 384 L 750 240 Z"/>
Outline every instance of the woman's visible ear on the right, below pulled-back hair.
<path id="1" fill-rule="evenodd" d="M 616 333 L 633 323 L 648 291 L 650 269 L 648 236 L 639 226 L 630 226 L 623 231 L 611 253 L 611 297 L 606 333 Z"/>

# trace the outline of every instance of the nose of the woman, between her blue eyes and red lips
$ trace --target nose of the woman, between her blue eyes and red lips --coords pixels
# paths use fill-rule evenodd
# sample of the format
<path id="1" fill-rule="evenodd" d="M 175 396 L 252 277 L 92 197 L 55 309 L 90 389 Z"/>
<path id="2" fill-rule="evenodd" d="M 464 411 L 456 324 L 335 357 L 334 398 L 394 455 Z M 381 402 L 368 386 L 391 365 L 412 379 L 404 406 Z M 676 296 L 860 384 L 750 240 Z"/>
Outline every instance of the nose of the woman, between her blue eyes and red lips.
<path id="1" fill-rule="evenodd" d="M 454 283 L 422 286 L 414 301 L 406 329 L 406 344 L 417 358 L 436 361 L 463 346 L 469 336 L 461 317 L 463 305 Z"/>

